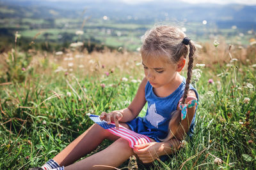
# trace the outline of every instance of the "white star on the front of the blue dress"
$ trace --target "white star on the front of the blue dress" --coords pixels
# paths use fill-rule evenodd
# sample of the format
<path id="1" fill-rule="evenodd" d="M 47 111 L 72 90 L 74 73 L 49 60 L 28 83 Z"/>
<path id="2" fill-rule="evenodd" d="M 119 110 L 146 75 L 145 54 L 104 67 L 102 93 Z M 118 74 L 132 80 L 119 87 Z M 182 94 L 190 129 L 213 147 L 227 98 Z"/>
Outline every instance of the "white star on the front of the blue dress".
<path id="1" fill-rule="evenodd" d="M 148 108 L 148 115 L 146 116 L 146 119 L 150 124 L 152 124 L 154 127 L 158 128 L 158 124 L 160 122 L 163 122 L 164 117 L 157 114 L 156 112 L 156 104 L 151 104 Z"/>

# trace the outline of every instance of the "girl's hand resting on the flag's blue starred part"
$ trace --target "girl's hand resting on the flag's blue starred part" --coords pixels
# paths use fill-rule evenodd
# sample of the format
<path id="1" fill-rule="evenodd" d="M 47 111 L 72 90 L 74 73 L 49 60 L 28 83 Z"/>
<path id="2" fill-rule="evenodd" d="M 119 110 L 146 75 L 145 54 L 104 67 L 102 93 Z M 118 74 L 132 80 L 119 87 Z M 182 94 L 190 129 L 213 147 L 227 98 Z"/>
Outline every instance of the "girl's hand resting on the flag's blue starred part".
<path id="1" fill-rule="evenodd" d="M 100 115 L 100 120 L 105 120 L 108 124 L 115 122 L 116 129 L 119 129 L 119 120 L 123 117 L 120 111 L 111 111 L 110 113 L 102 112 Z"/>

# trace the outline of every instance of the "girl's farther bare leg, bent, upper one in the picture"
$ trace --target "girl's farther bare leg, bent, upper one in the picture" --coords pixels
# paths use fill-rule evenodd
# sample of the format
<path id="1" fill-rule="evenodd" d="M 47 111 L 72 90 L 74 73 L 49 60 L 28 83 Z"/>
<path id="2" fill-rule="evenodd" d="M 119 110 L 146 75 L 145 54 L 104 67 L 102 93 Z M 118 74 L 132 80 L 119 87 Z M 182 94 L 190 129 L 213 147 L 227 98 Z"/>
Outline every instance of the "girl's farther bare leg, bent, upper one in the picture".
<path id="1" fill-rule="evenodd" d="M 106 138 L 116 140 L 119 137 L 94 124 L 58 153 L 53 160 L 60 166 L 68 166 L 87 153 L 92 152 Z"/>

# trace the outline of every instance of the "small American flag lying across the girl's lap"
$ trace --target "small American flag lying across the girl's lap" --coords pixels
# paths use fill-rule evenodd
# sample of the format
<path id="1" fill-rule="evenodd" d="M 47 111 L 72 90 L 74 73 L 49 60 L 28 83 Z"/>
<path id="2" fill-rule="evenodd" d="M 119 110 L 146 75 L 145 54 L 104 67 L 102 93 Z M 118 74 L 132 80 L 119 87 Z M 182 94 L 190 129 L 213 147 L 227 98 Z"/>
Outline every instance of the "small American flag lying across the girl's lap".
<path id="1" fill-rule="evenodd" d="M 108 124 L 105 120 L 101 121 L 98 115 L 92 115 L 90 113 L 88 113 L 87 115 L 90 117 L 90 119 L 93 120 L 93 122 L 100 125 L 107 131 L 115 134 L 116 136 L 120 136 L 121 138 L 126 139 L 129 142 L 129 146 L 131 148 L 134 148 L 134 145 L 141 145 L 151 142 L 150 138 L 148 138 L 147 136 L 131 131 L 130 129 L 127 129 L 122 125 L 119 125 L 119 129 L 116 129 L 115 124 Z"/>

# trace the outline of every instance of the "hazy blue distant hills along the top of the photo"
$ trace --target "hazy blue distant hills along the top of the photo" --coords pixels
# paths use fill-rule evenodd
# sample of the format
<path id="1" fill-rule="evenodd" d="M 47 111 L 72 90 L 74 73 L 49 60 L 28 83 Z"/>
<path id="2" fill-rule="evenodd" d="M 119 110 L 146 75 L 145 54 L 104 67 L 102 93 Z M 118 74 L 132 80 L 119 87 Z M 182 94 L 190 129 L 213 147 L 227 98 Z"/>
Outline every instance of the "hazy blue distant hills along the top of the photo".
<path id="1" fill-rule="evenodd" d="M 188 4 L 184 2 L 153 1 L 140 4 L 126 4 L 118 1 L 87 0 L 87 1 L 38 1 L 38 0 L 1 0 L 0 4 L 9 8 L 34 11 L 31 17 L 77 17 L 86 8 L 86 15 L 99 18 L 108 15 L 115 20 L 173 20 L 214 21 L 233 24 L 256 23 L 256 6 L 242 4 Z M 54 11 L 56 11 L 54 13 Z M 23 11 L 19 16 L 22 17 Z M 11 14 L 9 14 L 11 15 Z M 13 14 L 14 15 L 14 14 Z M 3 16 L 0 10 L 0 16 Z M 229 25 L 229 24 L 228 24 Z"/>

